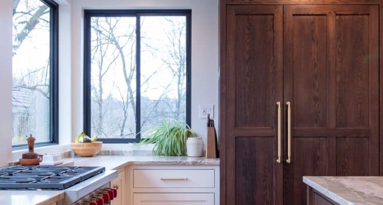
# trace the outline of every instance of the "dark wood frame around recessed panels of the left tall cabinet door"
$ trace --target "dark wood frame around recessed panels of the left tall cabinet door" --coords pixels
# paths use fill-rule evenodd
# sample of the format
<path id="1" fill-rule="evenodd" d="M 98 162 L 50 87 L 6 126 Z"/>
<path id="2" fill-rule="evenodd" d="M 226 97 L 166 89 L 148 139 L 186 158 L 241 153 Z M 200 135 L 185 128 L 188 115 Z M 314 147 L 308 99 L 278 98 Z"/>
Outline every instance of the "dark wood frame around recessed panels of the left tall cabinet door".
<path id="1" fill-rule="evenodd" d="M 282 85 L 282 15 L 283 15 L 283 7 L 282 6 L 229 6 L 227 7 L 227 26 L 226 29 L 232 29 L 232 33 L 228 32 L 226 34 L 226 59 L 225 59 L 225 66 L 229 68 L 235 68 L 235 53 L 233 53 L 234 45 L 235 45 L 235 16 L 236 15 L 273 15 L 273 31 L 272 31 L 272 63 L 269 68 L 264 69 L 270 69 L 268 70 L 270 73 L 268 74 L 272 76 L 271 78 L 273 80 L 270 80 L 271 87 L 273 87 L 273 94 L 270 95 L 270 105 L 267 105 L 270 107 L 269 112 L 267 112 L 268 115 L 270 115 L 270 122 L 269 126 L 252 126 L 252 125 L 245 125 L 245 126 L 239 126 L 237 125 L 235 117 L 235 113 L 238 112 L 235 110 L 233 106 L 226 107 L 226 110 L 224 112 L 225 116 L 225 140 L 224 146 L 221 147 L 221 154 L 224 156 L 223 162 L 221 162 L 221 168 L 225 170 L 228 168 L 227 166 L 230 165 L 233 169 L 233 166 L 235 166 L 235 143 L 236 138 L 238 137 L 244 137 L 246 139 L 256 139 L 256 138 L 272 138 L 273 144 L 271 148 L 268 150 L 270 153 L 272 153 L 272 159 L 267 161 L 268 163 L 271 163 L 273 166 L 272 170 L 264 171 L 270 173 L 273 177 L 273 183 L 272 183 L 272 199 L 270 201 L 271 204 L 282 204 L 282 173 L 283 173 L 283 163 L 277 163 L 277 153 L 278 153 L 278 135 L 277 135 L 277 101 L 280 101 L 281 104 L 283 104 L 283 85 Z M 226 26 L 226 25 L 225 25 Z M 250 38 L 251 36 L 249 36 Z M 249 65 L 247 65 L 249 66 Z M 235 84 L 235 80 L 238 80 L 235 69 L 227 69 L 224 71 L 225 76 L 221 76 L 222 78 L 225 78 L 225 82 L 227 82 L 227 87 L 225 88 L 225 95 L 224 95 L 224 101 L 225 105 L 235 105 L 235 89 L 233 88 L 233 84 Z M 235 79 L 234 79 L 235 78 Z M 223 80 L 223 79 L 221 79 Z M 283 106 L 282 113 L 283 113 Z M 223 116 L 221 116 L 222 118 Z M 230 119 L 228 119 L 230 118 Z M 281 122 L 283 125 L 283 122 Z M 251 124 L 251 123 L 249 123 Z M 221 126 L 221 131 L 223 131 Z M 228 146 L 229 145 L 229 146 Z M 224 152 L 224 153 L 223 153 Z M 221 156 L 222 156 L 221 155 Z M 225 166 L 223 168 L 223 166 Z M 265 168 L 266 169 L 266 168 Z M 236 192 L 235 190 L 235 171 L 232 170 L 230 172 L 227 172 L 226 178 L 224 179 L 223 186 L 226 187 L 226 189 L 229 187 L 230 190 L 224 190 L 223 196 L 225 197 L 224 201 L 227 204 L 235 204 L 235 195 L 233 192 Z M 222 179 L 222 178 L 221 178 Z M 266 180 L 266 179 L 264 179 Z M 221 180 L 222 181 L 222 180 Z M 264 188 L 266 189 L 266 188 Z M 234 190 L 234 191 L 233 191 Z M 265 192 L 268 192 L 268 190 L 264 190 Z M 266 199 L 267 201 L 267 199 Z"/>

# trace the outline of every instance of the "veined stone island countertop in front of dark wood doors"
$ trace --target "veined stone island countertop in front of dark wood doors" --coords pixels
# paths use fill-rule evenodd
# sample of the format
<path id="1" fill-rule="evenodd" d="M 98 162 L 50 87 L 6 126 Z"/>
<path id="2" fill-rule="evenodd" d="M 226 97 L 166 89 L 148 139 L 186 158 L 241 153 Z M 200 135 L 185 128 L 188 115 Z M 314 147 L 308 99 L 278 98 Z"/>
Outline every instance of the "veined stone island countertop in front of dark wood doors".
<path id="1" fill-rule="evenodd" d="M 303 182 L 341 205 L 383 205 L 383 176 L 304 176 Z"/>

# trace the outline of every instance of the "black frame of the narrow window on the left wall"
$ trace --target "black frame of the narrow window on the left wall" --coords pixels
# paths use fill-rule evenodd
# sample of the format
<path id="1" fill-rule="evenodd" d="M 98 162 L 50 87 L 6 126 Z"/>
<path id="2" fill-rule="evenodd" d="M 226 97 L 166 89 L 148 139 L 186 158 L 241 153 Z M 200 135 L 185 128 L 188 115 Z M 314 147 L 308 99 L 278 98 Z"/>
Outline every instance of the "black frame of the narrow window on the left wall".
<path id="1" fill-rule="evenodd" d="M 59 4 L 53 0 L 40 1 L 49 7 L 49 141 L 36 142 L 34 147 L 59 144 Z M 12 145 L 12 150 L 27 147 Z"/>

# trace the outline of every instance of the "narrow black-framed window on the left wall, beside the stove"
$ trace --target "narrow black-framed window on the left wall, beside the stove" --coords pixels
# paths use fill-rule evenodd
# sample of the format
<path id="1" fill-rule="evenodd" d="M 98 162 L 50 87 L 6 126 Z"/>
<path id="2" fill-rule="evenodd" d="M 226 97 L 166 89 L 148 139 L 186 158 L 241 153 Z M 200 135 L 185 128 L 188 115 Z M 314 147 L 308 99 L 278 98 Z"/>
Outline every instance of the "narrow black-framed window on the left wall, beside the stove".
<path id="1" fill-rule="evenodd" d="M 13 0 L 13 148 L 58 143 L 58 4 Z"/>

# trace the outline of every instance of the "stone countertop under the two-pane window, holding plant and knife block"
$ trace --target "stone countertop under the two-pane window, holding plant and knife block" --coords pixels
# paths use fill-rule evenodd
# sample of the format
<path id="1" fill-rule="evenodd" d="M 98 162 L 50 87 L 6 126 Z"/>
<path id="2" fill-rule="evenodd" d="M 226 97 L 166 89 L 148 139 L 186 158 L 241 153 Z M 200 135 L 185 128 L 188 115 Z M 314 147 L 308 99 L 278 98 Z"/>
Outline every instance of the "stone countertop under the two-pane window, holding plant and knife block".
<path id="1" fill-rule="evenodd" d="M 93 157 L 68 157 L 66 163 L 74 161 L 75 166 L 102 166 L 106 170 L 117 170 L 127 165 L 220 165 L 220 159 L 187 156 L 114 156 L 96 155 Z"/>

